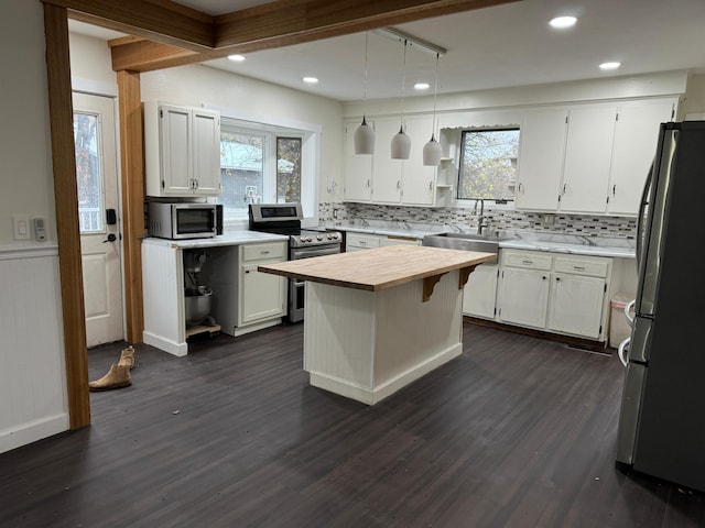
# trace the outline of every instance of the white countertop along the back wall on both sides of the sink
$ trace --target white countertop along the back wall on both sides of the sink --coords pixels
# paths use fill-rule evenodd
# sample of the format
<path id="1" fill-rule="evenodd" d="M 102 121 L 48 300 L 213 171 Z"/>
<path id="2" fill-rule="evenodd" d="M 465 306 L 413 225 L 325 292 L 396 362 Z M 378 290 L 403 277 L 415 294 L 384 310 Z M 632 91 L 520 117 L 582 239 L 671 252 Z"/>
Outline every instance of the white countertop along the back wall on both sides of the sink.
<path id="1" fill-rule="evenodd" d="M 326 226 L 326 228 L 337 229 L 339 231 L 352 231 L 356 233 L 404 237 L 410 239 L 423 239 L 427 234 L 440 234 L 453 231 L 449 226 L 382 221 L 379 223 L 368 222 L 368 226 L 347 223 Z M 636 256 L 634 241 L 629 239 L 519 231 L 506 233 L 502 238 L 503 240 L 499 242 L 500 249 L 611 256 L 616 258 L 634 258 Z"/>

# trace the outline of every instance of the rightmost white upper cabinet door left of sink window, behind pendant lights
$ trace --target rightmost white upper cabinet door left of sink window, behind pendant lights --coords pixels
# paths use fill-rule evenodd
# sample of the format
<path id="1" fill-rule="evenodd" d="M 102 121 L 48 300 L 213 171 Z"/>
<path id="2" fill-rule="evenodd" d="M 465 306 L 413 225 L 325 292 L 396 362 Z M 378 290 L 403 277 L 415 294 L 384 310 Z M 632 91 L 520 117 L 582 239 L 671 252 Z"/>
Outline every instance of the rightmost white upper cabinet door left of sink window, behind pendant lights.
<path id="1" fill-rule="evenodd" d="M 406 134 L 411 139 L 411 154 L 402 162 L 402 204 L 432 206 L 436 190 L 436 167 L 423 164 L 423 146 L 431 140 L 433 118 L 409 118 Z M 391 141 L 391 139 L 390 139 Z"/>

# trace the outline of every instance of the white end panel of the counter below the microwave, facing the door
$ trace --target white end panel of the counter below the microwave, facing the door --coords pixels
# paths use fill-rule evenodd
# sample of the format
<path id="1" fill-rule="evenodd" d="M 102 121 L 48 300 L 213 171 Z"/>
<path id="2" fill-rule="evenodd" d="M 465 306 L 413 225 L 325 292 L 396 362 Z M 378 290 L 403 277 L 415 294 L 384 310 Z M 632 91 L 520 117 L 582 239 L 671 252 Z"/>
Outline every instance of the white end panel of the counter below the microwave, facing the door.
<path id="1" fill-rule="evenodd" d="M 174 355 L 186 355 L 184 262 L 180 249 L 142 243 L 142 285 L 147 344 Z"/>

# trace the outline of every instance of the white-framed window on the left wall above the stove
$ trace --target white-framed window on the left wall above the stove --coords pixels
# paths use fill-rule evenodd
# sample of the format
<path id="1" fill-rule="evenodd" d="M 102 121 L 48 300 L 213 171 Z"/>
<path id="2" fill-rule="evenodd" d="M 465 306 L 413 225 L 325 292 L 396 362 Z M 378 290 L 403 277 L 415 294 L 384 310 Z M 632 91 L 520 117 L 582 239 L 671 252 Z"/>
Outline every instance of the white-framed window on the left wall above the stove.
<path id="1" fill-rule="evenodd" d="M 228 220 L 247 218 L 249 204 L 302 200 L 302 143 L 291 130 L 278 134 L 273 127 L 223 120 L 220 127 L 220 179 L 217 198 Z M 284 136 L 284 134 L 286 134 Z"/>

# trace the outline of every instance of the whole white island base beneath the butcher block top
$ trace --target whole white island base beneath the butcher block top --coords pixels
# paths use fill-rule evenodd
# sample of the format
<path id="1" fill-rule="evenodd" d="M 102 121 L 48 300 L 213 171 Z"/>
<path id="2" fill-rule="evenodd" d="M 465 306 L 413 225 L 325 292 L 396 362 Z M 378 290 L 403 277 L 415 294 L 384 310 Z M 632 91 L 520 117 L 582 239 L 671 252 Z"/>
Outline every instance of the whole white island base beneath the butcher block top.
<path id="1" fill-rule="evenodd" d="M 462 353 L 458 272 L 423 302 L 423 280 L 377 293 L 306 284 L 311 384 L 373 405 Z"/>

